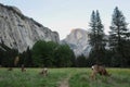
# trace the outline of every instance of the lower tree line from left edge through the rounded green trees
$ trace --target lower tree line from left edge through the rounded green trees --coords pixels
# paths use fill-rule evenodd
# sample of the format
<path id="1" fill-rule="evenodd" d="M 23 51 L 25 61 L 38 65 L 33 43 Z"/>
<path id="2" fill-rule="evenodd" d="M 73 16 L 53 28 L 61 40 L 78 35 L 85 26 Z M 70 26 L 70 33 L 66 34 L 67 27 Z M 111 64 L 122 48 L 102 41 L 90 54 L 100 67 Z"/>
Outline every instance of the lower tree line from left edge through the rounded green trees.
<path id="1" fill-rule="evenodd" d="M 31 49 L 18 53 L 4 44 L 0 44 L 0 65 L 5 67 L 67 67 L 73 66 L 75 54 L 67 45 L 53 41 L 37 41 Z"/>

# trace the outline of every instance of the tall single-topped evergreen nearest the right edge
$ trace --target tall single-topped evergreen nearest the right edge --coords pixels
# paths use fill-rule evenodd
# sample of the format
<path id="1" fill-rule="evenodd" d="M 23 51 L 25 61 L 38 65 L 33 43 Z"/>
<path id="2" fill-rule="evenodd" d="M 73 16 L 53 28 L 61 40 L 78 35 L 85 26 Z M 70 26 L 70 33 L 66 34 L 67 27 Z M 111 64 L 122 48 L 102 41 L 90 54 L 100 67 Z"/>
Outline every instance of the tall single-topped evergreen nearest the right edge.
<path id="1" fill-rule="evenodd" d="M 109 28 L 109 47 L 114 52 L 113 64 L 114 66 L 122 66 L 126 61 L 125 48 L 127 40 L 129 39 L 129 32 L 126 18 L 117 7 L 114 10 L 112 25 Z"/>

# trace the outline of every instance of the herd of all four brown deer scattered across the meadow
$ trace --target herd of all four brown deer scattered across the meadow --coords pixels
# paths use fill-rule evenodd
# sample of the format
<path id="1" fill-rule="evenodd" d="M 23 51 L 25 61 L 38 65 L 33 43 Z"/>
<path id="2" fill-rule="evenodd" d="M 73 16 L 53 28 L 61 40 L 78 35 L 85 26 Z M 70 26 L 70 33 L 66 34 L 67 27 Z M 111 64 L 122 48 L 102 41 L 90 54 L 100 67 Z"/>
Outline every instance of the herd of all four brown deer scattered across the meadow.
<path id="1" fill-rule="evenodd" d="M 105 70 L 105 67 L 102 66 L 102 65 L 95 64 L 95 65 L 92 65 L 91 69 L 92 69 L 92 73 L 91 73 L 90 77 L 92 79 L 95 79 L 96 74 L 100 74 L 100 75 L 103 75 L 103 76 L 110 76 L 108 74 L 108 72 Z M 13 70 L 12 67 L 9 69 L 9 71 L 12 71 L 12 70 Z M 26 72 L 24 64 L 22 64 L 21 70 L 22 70 L 22 72 Z M 43 76 L 47 76 L 48 75 L 48 69 L 43 67 L 42 71 L 39 74 L 43 75 Z"/>

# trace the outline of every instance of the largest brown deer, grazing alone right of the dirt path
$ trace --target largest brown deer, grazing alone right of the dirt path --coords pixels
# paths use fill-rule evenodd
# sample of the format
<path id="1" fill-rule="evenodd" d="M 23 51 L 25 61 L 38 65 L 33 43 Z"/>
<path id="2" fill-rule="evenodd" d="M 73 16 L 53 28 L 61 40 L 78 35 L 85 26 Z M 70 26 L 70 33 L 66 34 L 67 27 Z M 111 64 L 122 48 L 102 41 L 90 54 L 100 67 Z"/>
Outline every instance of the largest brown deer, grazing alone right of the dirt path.
<path id="1" fill-rule="evenodd" d="M 95 78 L 95 75 L 100 74 L 100 75 L 104 75 L 104 76 L 109 76 L 109 74 L 107 73 L 107 71 L 105 70 L 104 66 L 101 65 L 92 65 L 92 74 L 91 74 L 91 78 Z"/>

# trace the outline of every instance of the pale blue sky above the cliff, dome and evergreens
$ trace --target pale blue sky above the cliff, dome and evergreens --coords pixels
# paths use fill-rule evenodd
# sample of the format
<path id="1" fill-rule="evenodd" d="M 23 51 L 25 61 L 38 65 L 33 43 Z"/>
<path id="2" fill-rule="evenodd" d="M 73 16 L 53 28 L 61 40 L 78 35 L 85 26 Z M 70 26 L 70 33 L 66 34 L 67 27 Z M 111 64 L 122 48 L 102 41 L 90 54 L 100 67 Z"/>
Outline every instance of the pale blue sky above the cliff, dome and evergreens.
<path id="1" fill-rule="evenodd" d="M 115 7 L 122 11 L 127 23 L 130 23 L 130 0 L 0 0 L 0 3 L 17 7 L 24 15 L 57 32 L 60 39 L 75 28 L 88 30 L 93 10 L 99 10 L 106 34 Z"/>

